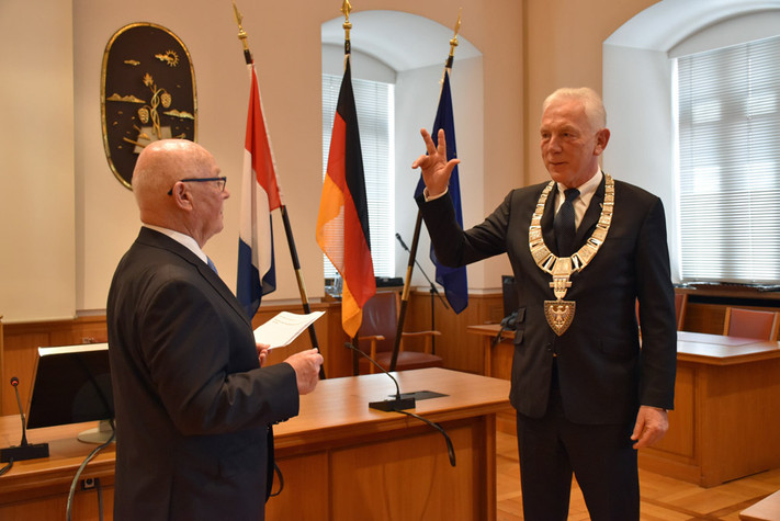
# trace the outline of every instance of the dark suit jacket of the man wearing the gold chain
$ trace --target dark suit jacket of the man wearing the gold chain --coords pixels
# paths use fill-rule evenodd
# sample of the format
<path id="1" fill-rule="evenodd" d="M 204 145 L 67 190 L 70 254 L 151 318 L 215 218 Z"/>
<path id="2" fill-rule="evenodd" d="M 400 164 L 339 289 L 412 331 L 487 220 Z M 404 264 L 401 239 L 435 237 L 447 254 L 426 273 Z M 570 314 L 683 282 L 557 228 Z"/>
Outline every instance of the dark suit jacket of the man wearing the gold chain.
<path id="1" fill-rule="evenodd" d="M 544 317 L 544 301 L 555 299 L 552 276 L 536 267 L 528 243 L 531 216 L 546 184 L 513 190 L 484 223 L 467 231 L 457 226 L 449 196 L 428 203 L 418 199 L 443 263 L 464 265 L 499 253 L 509 256 L 519 302 L 512 405 L 529 417 L 544 414 L 556 353 L 564 410 L 574 422 L 633 422 L 640 405 L 671 409 L 677 331 L 660 200 L 615 181 L 607 240 L 590 264 L 570 278 L 565 299 L 577 303 L 576 313 L 568 330 L 557 337 Z M 547 197 L 542 231 L 555 252 L 553 195 Z M 577 248 L 594 230 L 603 199 L 602 179 L 577 228 Z"/>

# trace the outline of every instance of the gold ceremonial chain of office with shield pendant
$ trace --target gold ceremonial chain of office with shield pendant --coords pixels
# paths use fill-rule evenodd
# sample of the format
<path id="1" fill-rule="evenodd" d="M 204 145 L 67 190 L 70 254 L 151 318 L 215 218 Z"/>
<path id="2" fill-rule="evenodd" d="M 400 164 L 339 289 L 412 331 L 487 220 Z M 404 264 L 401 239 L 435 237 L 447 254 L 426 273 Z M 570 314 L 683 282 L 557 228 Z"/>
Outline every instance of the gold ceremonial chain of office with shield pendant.
<path id="1" fill-rule="evenodd" d="M 550 196 L 550 192 L 555 186 L 555 181 L 544 188 L 536 202 L 536 209 L 531 217 L 531 226 L 528 229 L 528 246 L 531 249 L 536 265 L 544 272 L 553 275 L 550 287 L 553 288 L 555 301 L 544 301 L 544 317 L 547 324 L 558 337 L 566 332 L 574 320 L 574 313 L 577 303 L 564 301 L 566 292 L 572 287 L 569 278 L 573 273 L 581 271 L 592 260 L 607 239 L 607 233 L 612 224 L 612 212 L 614 211 L 614 180 L 604 173 L 606 192 L 604 202 L 601 205 L 601 215 L 596 224 L 596 229 L 588 237 L 583 247 L 572 257 L 557 257 L 550 251 L 542 237 L 542 214 L 544 205 Z"/>

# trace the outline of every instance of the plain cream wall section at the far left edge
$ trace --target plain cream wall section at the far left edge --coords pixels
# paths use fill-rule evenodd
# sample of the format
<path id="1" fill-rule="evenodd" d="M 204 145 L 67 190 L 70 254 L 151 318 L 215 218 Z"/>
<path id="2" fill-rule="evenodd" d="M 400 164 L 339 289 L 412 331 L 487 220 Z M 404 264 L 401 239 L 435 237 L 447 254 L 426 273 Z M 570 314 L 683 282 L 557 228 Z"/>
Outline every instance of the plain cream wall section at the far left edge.
<path id="1" fill-rule="evenodd" d="M 0 2 L 0 315 L 75 313 L 69 2 Z"/>

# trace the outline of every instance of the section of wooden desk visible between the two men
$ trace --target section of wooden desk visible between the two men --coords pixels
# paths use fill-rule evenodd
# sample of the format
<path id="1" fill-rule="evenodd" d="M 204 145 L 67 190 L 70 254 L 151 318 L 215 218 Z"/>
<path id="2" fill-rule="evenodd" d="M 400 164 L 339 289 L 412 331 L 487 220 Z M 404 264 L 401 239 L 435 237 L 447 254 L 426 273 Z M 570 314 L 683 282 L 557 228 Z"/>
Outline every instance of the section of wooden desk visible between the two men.
<path id="1" fill-rule="evenodd" d="M 269 501 L 269 520 L 496 519 L 495 416 L 508 405 L 509 382 L 443 369 L 394 375 L 402 393 L 449 395 L 414 411 L 446 430 L 457 465 L 439 432 L 369 409 L 395 394 L 386 375 L 327 380 L 274 429 L 289 488 Z"/>

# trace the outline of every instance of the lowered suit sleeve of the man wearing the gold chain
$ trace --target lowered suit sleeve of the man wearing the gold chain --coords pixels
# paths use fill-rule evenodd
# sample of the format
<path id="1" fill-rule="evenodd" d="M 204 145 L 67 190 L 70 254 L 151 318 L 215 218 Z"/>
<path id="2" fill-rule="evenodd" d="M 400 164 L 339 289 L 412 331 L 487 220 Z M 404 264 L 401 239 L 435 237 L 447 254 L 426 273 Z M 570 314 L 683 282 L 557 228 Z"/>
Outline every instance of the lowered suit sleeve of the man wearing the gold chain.
<path id="1" fill-rule="evenodd" d="M 672 409 L 677 371 L 677 319 L 666 220 L 660 200 L 648 212 L 636 250 L 642 325 L 641 405 Z"/>

